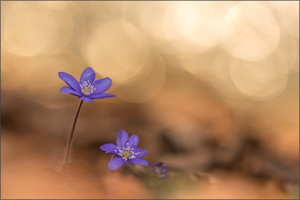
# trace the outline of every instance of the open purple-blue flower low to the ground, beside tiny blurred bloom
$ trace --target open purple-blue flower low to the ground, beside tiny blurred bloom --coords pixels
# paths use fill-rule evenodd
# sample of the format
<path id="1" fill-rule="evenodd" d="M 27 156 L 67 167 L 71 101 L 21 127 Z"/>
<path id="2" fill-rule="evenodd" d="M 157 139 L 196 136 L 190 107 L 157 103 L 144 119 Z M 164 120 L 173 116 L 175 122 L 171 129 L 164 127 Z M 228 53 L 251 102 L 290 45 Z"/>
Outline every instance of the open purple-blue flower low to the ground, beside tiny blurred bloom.
<path id="1" fill-rule="evenodd" d="M 117 145 L 109 143 L 100 147 L 100 149 L 106 151 L 106 154 L 110 153 L 116 155 L 112 157 L 108 163 L 109 170 L 115 171 L 121 167 L 124 170 L 124 166 L 135 168 L 135 164 L 148 166 L 146 160 L 140 159 L 140 157 L 146 155 L 148 151 L 137 149 L 137 144 L 139 143 L 139 137 L 137 135 L 131 135 L 128 138 L 128 134 L 121 129 L 118 132 L 116 143 Z M 126 170 L 124 171 L 126 172 Z"/>

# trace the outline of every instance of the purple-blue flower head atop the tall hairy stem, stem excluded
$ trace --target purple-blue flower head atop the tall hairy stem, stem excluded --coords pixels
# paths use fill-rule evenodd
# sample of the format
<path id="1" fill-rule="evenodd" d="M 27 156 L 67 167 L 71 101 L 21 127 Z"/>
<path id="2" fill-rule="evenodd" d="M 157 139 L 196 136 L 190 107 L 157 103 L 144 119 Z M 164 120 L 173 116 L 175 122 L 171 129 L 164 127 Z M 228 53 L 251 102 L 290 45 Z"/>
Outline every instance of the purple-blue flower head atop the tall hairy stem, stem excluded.
<path id="1" fill-rule="evenodd" d="M 80 76 L 80 82 L 65 72 L 58 72 L 59 78 L 70 87 L 61 88 L 61 93 L 69 93 L 78 96 L 78 99 L 93 102 L 93 99 L 105 99 L 115 97 L 115 95 L 104 93 L 112 85 L 112 80 L 108 77 L 95 80 L 95 72 L 91 67 L 86 68 Z"/>

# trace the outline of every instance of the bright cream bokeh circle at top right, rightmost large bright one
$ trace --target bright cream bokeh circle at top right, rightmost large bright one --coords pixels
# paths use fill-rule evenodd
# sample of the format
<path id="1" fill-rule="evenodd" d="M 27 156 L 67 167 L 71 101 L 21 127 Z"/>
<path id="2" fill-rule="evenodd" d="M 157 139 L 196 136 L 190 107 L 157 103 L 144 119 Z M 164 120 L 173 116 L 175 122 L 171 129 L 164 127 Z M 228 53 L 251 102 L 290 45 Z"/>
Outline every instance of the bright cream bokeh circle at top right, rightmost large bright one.
<path id="1" fill-rule="evenodd" d="M 271 54 L 280 37 L 276 19 L 256 1 L 232 7 L 223 19 L 221 34 L 227 51 L 243 60 L 260 60 Z"/>

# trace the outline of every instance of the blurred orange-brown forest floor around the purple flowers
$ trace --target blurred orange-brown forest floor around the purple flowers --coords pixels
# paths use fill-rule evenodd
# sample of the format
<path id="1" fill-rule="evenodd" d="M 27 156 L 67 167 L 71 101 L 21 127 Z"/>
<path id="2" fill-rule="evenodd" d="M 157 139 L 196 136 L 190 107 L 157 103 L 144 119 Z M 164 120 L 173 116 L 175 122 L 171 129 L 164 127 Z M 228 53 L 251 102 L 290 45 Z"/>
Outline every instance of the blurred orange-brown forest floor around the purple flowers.
<path id="1" fill-rule="evenodd" d="M 61 169 L 76 105 L 57 110 L 20 97 L 8 102 L 13 101 L 18 103 L 1 113 L 2 199 L 287 199 L 299 194 L 297 130 L 284 125 L 253 128 L 232 121 L 230 113 L 204 124 L 179 105 L 99 100 L 84 103 L 73 162 Z M 226 118 L 229 122 L 218 129 Z M 99 147 L 115 143 L 120 128 L 139 135 L 139 147 L 149 151 L 143 158 L 164 161 L 171 177 L 149 177 L 150 166 L 137 165 L 134 175 L 109 171 L 111 155 Z M 274 137 L 275 131 L 285 134 Z"/>

